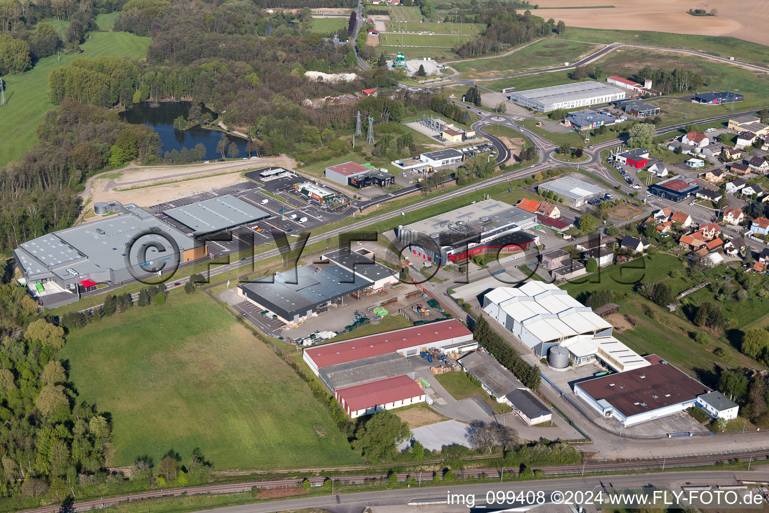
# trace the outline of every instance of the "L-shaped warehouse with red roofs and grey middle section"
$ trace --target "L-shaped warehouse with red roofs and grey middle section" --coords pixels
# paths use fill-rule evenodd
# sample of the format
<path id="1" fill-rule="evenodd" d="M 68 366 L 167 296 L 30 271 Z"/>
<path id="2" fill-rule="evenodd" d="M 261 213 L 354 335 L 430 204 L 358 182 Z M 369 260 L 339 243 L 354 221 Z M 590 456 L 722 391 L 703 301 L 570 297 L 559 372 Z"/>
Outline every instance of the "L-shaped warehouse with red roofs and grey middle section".
<path id="1" fill-rule="evenodd" d="M 477 347 L 473 334 L 448 319 L 306 348 L 304 360 L 351 418 L 425 400 L 409 356 L 450 346 Z"/>

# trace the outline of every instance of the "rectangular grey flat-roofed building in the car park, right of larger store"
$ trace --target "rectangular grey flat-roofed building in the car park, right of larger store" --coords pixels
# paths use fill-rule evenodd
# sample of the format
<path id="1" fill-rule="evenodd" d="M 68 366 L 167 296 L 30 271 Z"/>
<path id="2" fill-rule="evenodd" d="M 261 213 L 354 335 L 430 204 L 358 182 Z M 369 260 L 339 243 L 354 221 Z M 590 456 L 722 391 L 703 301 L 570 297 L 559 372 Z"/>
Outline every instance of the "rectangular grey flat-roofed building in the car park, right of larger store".
<path id="1" fill-rule="evenodd" d="M 233 195 L 218 196 L 204 202 L 169 208 L 163 213 L 182 225 L 188 226 L 195 235 L 218 232 L 270 216 L 269 212 Z"/>

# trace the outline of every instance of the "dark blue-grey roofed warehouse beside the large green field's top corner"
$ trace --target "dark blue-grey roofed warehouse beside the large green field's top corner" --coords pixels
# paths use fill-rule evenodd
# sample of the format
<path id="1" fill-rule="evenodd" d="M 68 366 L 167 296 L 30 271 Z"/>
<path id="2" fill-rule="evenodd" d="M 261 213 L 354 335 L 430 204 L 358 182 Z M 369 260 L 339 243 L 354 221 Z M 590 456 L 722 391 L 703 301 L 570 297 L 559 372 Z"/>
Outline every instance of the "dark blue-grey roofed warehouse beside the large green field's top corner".
<path id="1" fill-rule="evenodd" d="M 377 263 L 371 252 L 342 248 L 321 255 L 314 264 L 242 283 L 238 295 L 275 319 L 296 325 L 340 307 L 345 295 L 375 292 L 397 282 L 395 271 Z"/>

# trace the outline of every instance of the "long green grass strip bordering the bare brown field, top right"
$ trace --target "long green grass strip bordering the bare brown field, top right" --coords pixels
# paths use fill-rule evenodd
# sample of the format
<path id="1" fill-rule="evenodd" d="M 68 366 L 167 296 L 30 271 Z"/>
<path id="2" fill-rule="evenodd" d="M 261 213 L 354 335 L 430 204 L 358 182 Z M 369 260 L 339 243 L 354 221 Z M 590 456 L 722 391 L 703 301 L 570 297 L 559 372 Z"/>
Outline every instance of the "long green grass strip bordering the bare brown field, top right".
<path id="1" fill-rule="evenodd" d="M 621 42 L 662 46 L 664 48 L 682 48 L 716 55 L 717 57 L 734 57 L 739 61 L 752 62 L 759 65 L 766 65 L 769 62 L 769 46 L 725 36 L 568 27 L 566 32 L 556 37 L 604 45 Z"/>

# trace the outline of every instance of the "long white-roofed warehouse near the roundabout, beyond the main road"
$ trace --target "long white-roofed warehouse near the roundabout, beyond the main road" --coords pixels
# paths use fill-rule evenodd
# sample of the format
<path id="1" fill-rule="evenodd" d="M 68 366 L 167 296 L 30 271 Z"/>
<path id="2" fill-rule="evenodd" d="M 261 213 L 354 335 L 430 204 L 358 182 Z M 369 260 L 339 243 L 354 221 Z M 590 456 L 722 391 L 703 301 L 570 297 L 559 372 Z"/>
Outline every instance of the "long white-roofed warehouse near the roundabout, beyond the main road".
<path id="1" fill-rule="evenodd" d="M 510 101 L 541 112 L 550 112 L 557 108 L 577 108 L 615 102 L 626 96 L 619 88 L 601 82 L 588 81 L 513 92 L 510 95 Z"/>

